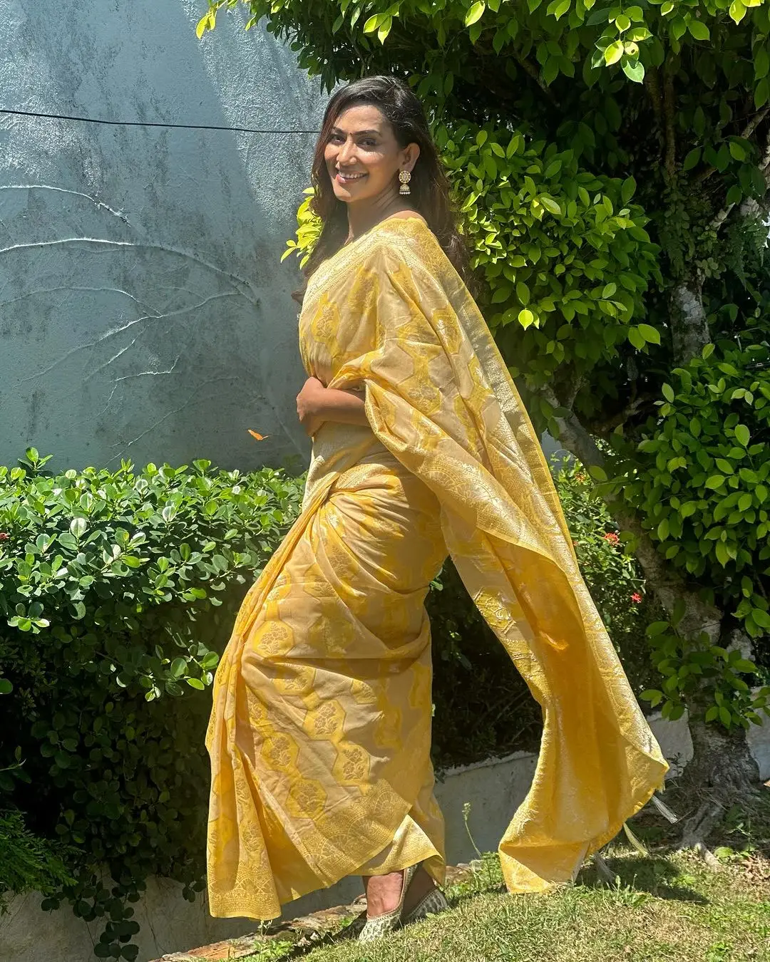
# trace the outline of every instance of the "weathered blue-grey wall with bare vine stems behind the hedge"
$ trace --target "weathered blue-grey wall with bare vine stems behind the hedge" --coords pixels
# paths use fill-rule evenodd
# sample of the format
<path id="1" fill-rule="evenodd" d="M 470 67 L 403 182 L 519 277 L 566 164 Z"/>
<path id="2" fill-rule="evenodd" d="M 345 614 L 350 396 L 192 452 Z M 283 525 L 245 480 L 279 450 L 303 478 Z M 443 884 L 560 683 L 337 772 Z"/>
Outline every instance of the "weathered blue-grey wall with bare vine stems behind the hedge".
<path id="1" fill-rule="evenodd" d="M 0 0 L 0 464 L 305 456 L 279 266 L 325 97 L 205 0 Z M 269 435 L 256 443 L 247 428 Z"/>

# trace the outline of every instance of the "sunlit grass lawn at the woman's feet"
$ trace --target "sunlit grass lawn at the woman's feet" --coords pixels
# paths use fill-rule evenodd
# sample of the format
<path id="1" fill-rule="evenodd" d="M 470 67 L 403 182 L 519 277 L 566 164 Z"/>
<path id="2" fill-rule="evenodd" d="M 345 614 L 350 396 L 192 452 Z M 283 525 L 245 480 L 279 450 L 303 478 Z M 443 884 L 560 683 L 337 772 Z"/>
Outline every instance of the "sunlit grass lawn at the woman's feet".
<path id="1" fill-rule="evenodd" d="M 770 792 L 749 815 L 734 809 L 711 848 L 721 868 L 673 852 L 670 831 L 643 813 L 628 844 L 605 851 L 614 882 L 586 867 L 575 885 L 545 896 L 501 891 L 497 860 L 449 889 L 449 912 L 373 946 L 340 933 L 305 962 L 770 962 Z M 668 793 L 667 793 L 667 801 Z M 288 947 L 287 947 L 288 949 Z M 297 957 L 278 946 L 260 959 Z"/>

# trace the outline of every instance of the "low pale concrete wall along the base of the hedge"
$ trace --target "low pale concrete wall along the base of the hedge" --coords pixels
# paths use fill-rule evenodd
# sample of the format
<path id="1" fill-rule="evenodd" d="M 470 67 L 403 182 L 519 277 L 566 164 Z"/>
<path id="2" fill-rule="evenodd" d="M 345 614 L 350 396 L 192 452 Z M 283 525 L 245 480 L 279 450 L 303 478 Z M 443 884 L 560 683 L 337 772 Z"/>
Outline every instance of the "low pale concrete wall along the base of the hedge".
<path id="1" fill-rule="evenodd" d="M 672 771 L 680 771 L 692 756 L 686 721 L 672 723 L 657 718 L 653 719 L 652 727 L 672 763 Z M 770 777 L 770 724 L 753 726 L 749 741 L 761 777 Z M 466 802 L 471 805 L 468 821 L 475 845 L 482 851 L 497 848 L 514 809 L 526 795 L 535 761 L 533 754 L 516 752 L 445 772 L 436 786 L 436 797 L 447 820 L 450 863 L 467 862 L 475 857 L 463 819 L 463 805 Z M 297 899 L 287 906 L 287 915 L 296 917 L 346 904 L 360 892 L 360 879 L 347 878 L 331 889 Z M 100 925 L 76 919 L 68 908 L 42 915 L 39 902 L 37 895 L 13 899 L 10 912 L 0 916 L 0 960 L 92 962 L 93 942 Z M 139 962 L 156 959 L 167 952 L 234 938 L 255 928 L 247 919 L 212 919 L 204 898 L 185 901 L 181 886 L 163 878 L 150 880 L 144 898 L 135 908 L 136 921 L 141 925 Z"/>

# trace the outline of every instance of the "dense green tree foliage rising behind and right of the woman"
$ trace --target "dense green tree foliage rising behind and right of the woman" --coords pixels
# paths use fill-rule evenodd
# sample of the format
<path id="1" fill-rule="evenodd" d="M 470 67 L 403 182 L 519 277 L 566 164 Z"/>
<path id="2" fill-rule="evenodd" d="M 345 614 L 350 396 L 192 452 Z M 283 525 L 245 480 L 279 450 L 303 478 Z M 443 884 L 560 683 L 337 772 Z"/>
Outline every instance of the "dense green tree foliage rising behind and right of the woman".
<path id="1" fill-rule="evenodd" d="M 770 622 L 770 5 L 211 0 L 200 34 L 239 2 L 327 89 L 393 73 L 424 99 L 530 413 L 665 609 L 649 696 L 745 758 Z"/>

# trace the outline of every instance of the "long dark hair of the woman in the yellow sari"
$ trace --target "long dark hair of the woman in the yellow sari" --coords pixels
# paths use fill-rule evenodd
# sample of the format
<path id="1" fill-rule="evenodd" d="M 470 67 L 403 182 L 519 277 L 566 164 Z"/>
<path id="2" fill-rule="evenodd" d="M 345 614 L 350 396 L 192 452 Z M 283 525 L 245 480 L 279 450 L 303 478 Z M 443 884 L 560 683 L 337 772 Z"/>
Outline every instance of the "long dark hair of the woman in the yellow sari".
<path id="1" fill-rule="evenodd" d="M 449 201 L 449 180 L 430 136 L 420 100 L 396 77 L 365 77 L 339 89 L 323 114 L 321 134 L 313 158 L 311 183 L 315 196 L 311 211 L 321 217 L 321 237 L 305 265 L 309 277 L 322 261 L 335 254 L 347 238 L 347 205 L 334 194 L 323 153 L 332 128 L 340 114 L 358 104 L 368 104 L 382 112 L 398 141 L 399 147 L 409 143 L 420 146 L 420 157 L 409 182 L 409 203 L 422 214 L 445 254 L 466 284 L 470 284 L 471 266 L 468 248 L 457 230 L 457 221 Z"/>

